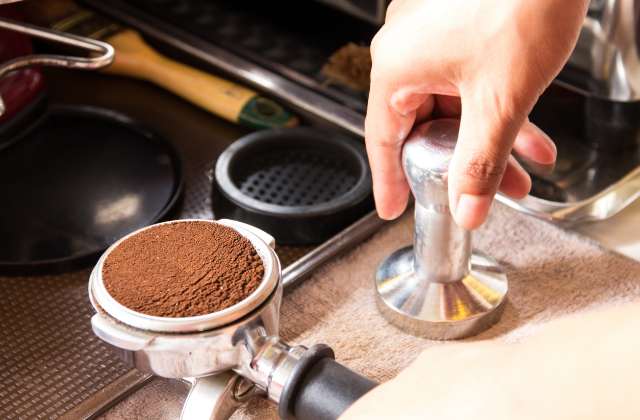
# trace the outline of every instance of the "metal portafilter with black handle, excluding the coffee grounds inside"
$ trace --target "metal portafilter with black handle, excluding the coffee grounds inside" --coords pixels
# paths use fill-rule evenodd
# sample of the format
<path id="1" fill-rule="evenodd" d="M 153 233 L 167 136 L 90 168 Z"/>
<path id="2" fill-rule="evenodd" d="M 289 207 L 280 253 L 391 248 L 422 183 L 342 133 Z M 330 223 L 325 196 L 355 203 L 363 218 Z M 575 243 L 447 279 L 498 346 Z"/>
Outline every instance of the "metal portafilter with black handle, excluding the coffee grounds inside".
<path id="1" fill-rule="evenodd" d="M 169 318 L 128 309 L 107 291 L 102 268 L 123 241 L 166 223 L 219 223 L 247 238 L 264 265 L 258 288 L 224 310 Z M 227 419 L 250 395 L 278 404 L 284 419 L 336 419 L 376 384 L 334 360 L 326 345 L 290 346 L 278 337 L 282 281 L 273 237 L 232 220 L 181 220 L 125 236 L 99 259 L 89 279 L 94 333 L 138 370 L 187 379 L 183 419 Z"/>

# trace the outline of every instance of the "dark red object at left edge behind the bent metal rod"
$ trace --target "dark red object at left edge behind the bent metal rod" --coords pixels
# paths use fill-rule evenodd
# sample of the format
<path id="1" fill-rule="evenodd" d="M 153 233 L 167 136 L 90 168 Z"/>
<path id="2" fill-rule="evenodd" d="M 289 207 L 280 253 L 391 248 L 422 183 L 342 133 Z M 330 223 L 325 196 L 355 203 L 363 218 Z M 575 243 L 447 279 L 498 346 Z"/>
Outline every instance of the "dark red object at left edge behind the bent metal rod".
<path id="1" fill-rule="evenodd" d="M 20 14 L 12 6 L 0 8 L 0 16 L 21 20 Z M 31 52 L 29 37 L 18 32 L 0 29 L 0 63 L 31 54 Z M 5 106 L 5 112 L 0 116 L 0 124 L 33 102 L 43 88 L 42 73 L 36 67 L 18 70 L 0 79 L 0 96 L 2 96 Z"/>

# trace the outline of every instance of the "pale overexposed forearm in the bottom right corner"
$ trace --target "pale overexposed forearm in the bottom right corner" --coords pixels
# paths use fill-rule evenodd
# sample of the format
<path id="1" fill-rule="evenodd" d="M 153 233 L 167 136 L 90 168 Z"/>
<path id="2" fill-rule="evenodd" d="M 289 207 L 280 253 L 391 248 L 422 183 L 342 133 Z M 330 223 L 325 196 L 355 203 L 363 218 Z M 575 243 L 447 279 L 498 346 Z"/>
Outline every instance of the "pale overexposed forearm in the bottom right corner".
<path id="1" fill-rule="evenodd" d="M 640 305 L 565 318 L 518 344 L 443 344 L 345 419 L 640 418 Z"/>

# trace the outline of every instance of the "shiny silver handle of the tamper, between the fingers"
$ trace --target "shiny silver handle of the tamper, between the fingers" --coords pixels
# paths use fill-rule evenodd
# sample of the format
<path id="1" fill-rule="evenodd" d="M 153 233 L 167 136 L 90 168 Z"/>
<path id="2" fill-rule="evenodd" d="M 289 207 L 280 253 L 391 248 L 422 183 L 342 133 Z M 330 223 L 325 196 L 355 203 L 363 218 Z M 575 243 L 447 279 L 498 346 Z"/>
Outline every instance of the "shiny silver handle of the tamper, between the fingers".
<path id="1" fill-rule="evenodd" d="M 451 283 L 469 271 L 471 236 L 449 208 L 448 172 L 460 121 L 440 119 L 416 127 L 402 149 L 402 164 L 416 199 L 415 270 L 425 280 Z"/>

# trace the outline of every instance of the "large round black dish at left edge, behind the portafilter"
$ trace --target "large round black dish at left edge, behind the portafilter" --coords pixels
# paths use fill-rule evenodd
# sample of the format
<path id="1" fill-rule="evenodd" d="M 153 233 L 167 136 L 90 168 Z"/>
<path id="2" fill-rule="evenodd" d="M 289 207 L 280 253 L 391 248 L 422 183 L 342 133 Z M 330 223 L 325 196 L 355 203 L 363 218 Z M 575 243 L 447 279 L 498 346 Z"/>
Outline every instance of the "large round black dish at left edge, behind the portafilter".
<path id="1" fill-rule="evenodd" d="M 127 117 L 58 107 L 0 151 L 0 180 L 0 272 L 50 273 L 163 218 L 182 169 L 168 142 Z"/>

